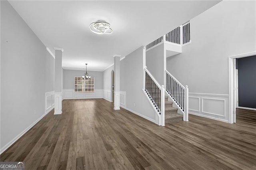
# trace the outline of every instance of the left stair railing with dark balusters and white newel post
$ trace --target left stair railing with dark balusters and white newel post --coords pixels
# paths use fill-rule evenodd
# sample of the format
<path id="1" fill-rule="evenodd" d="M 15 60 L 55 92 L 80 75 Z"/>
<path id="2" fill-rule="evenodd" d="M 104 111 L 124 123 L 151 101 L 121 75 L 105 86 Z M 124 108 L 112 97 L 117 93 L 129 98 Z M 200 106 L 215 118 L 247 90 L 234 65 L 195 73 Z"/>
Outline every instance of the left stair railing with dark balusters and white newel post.
<path id="1" fill-rule="evenodd" d="M 164 126 L 164 85 L 161 86 L 146 67 L 144 67 L 144 91 L 160 117 L 159 125 Z"/>

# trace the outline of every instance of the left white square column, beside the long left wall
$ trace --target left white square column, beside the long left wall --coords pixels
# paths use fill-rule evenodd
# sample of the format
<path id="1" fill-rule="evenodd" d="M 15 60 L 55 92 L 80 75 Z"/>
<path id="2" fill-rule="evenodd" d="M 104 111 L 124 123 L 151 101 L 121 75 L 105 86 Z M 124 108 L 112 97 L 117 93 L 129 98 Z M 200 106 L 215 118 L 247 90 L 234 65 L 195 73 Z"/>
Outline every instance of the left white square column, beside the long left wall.
<path id="1" fill-rule="evenodd" d="M 54 76 L 54 115 L 62 114 L 62 52 L 63 48 L 55 49 L 55 76 Z"/>

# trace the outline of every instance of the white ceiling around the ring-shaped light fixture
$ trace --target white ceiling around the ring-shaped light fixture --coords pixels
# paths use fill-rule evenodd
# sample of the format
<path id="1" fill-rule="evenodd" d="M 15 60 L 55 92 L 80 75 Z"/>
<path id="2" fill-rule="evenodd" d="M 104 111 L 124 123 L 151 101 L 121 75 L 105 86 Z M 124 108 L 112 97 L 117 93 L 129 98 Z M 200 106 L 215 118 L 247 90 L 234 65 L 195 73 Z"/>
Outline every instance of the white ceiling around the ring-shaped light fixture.
<path id="1" fill-rule="evenodd" d="M 9 1 L 46 47 L 64 48 L 62 67 L 102 71 L 220 0 L 188 1 Z M 112 26 L 110 35 L 89 30 L 96 20 Z"/>

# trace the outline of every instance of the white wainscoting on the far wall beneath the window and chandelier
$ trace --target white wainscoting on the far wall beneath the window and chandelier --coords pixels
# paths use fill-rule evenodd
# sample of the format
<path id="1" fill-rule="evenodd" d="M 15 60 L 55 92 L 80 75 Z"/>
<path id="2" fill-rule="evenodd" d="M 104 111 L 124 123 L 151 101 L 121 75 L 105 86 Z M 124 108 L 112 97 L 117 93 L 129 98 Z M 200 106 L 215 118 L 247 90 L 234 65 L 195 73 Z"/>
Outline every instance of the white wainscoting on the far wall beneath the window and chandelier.
<path id="1" fill-rule="evenodd" d="M 103 98 L 103 89 L 94 89 L 94 92 L 80 93 L 74 89 L 63 89 L 63 99 L 98 99 Z"/>

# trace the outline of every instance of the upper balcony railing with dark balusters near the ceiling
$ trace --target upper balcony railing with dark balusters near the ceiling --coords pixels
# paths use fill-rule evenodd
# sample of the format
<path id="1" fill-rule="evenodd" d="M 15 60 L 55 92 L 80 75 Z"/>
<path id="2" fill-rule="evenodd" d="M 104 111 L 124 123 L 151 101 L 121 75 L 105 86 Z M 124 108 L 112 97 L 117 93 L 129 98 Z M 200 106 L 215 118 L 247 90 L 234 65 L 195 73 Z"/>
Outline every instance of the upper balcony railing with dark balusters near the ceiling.
<path id="1" fill-rule="evenodd" d="M 156 39 L 155 41 L 146 45 L 146 50 L 162 43 L 162 42 L 171 42 L 175 44 L 184 45 L 190 42 L 190 22 L 183 24 L 171 32 L 168 32 L 164 36 Z"/>

